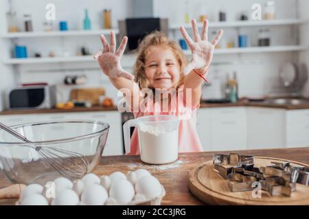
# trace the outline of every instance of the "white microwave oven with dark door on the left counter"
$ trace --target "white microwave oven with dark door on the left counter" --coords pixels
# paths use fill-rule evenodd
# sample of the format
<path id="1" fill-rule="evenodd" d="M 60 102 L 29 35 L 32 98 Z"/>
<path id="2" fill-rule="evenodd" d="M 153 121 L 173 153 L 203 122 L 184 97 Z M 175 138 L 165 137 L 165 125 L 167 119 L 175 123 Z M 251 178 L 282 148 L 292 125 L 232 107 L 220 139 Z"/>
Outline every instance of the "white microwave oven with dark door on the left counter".
<path id="1" fill-rule="evenodd" d="M 56 86 L 21 86 L 5 96 L 8 110 L 50 109 L 56 105 Z"/>

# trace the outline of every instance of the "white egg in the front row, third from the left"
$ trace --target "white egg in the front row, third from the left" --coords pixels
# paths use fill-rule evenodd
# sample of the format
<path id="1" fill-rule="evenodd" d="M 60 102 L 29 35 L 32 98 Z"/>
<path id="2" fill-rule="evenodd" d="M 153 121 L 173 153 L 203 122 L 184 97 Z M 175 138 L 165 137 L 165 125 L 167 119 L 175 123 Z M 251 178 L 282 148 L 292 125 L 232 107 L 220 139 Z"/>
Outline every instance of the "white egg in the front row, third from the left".
<path id="1" fill-rule="evenodd" d="M 103 186 L 99 184 L 89 185 L 82 192 L 82 203 L 86 205 L 104 205 L 108 194 Z"/>

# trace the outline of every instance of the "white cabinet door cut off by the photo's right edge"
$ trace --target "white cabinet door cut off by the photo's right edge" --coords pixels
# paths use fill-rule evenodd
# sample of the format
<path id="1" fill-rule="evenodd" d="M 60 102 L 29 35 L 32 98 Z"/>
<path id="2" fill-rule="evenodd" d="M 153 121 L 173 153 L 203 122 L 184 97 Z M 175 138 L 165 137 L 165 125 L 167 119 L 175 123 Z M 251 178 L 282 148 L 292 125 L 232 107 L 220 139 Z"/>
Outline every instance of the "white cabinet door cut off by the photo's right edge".
<path id="1" fill-rule="evenodd" d="M 286 146 L 309 146 L 309 110 L 287 110 Z"/>

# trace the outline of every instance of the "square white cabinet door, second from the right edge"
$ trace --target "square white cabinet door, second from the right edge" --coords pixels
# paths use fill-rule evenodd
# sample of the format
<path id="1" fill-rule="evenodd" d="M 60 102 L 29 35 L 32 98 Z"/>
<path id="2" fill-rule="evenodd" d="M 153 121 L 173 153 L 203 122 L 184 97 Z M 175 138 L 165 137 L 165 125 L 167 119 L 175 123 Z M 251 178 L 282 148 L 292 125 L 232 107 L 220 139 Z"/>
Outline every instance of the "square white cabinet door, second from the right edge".
<path id="1" fill-rule="evenodd" d="M 286 146 L 286 110 L 247 107 L 247 149 L 275 149 Z"/>

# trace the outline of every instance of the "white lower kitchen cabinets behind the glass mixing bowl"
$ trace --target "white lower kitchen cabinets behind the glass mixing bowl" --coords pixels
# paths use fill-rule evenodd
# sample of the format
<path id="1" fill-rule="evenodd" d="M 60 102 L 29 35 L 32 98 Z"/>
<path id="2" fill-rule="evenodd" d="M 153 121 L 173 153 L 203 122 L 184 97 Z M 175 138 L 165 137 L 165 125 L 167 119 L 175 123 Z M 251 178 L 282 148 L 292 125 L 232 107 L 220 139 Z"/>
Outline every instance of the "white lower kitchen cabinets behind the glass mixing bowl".
<path id="1" fill-rule="evenodd" d="M 54 120 L 99 120 L 110 125 L 103 155 L 123 155 L 121 114 L 117 111 L 23 114 L 0 116 L 1 123 L 16 125 Z"/>

